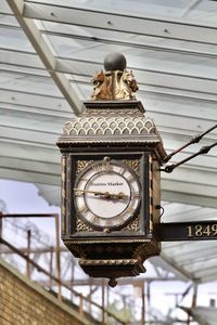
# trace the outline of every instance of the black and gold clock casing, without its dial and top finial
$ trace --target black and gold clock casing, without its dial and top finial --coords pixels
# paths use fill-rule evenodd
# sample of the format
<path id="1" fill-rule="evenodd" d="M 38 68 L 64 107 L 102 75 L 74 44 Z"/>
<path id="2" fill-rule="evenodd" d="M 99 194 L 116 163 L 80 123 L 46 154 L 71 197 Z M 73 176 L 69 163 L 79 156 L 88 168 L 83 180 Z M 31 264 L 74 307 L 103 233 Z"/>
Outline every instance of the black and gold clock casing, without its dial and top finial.
<path id="1" fill-rule="evenodd" d="M 62 239 L 90 276 L 136 276 L 145 272 L 143 261 L 161 251 L 154 224 L 159 222 L 159 169 L 166 153 L 140 102 L 99 101 L 85 105 L 80 117 L 66 122 L 58 142 L 62 153 Z M 141 184 L 137 214 L 108 232 L 79 219 L 73 194 L 80 171 L 78 161 L 100 161 L 105 156 L 125 162 L 139 160 Z"/>

